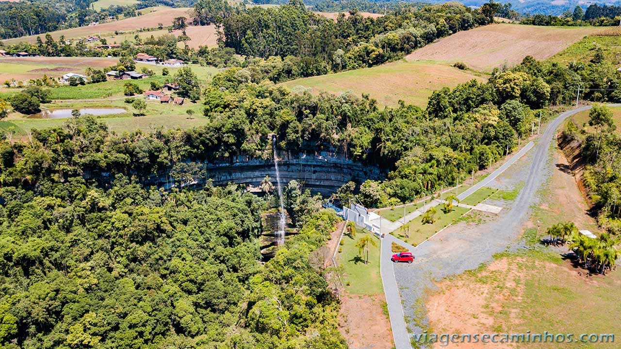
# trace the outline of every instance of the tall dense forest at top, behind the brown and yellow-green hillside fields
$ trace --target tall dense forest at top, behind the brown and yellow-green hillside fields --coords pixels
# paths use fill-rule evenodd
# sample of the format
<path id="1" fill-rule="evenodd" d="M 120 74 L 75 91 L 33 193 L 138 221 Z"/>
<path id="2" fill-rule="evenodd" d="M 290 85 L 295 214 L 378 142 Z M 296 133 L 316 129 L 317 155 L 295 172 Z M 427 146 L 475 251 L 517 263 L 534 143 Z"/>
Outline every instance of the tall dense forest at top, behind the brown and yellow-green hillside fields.
<path id="1" fill-rule="evenodd" d="M 497 4 L 473 10 L 449 3 L 407 7 L 378 19 L 351 12 L 335 22 L 291 0 L 279 7 L 233 11 L 222 24 L 226 47 L 240 55 L 306 58 L 325 73 L 399 59 L 440 37 L 493 22 L 496 9 Z"/>

